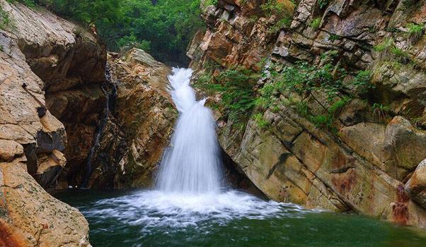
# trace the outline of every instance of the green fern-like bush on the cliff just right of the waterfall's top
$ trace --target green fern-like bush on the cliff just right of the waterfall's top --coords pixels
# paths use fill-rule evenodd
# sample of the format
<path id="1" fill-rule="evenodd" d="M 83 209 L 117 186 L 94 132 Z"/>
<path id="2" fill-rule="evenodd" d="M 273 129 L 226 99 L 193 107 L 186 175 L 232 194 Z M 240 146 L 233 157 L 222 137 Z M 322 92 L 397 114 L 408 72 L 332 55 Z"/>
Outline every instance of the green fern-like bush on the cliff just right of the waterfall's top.
<path id="1" fill-rule="evenodd" d="M 234 123 L 245 123 L 255 106 L 253 85 L 258 78 L 258 74 L 246 68 L 229 68 L 217 76 L 216 83 L 211 76 L 200 76 L 195 87 L 219 93 L 224 114 Z"/>

